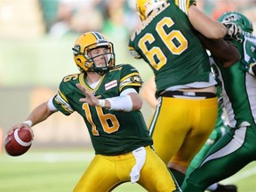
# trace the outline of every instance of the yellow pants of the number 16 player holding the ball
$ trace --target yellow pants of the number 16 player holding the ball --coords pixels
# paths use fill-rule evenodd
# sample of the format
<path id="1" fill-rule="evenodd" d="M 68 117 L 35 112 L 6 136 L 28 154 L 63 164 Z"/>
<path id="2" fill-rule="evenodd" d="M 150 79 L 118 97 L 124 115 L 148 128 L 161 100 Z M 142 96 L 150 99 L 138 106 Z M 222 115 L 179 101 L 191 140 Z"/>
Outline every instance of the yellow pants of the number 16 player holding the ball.
<path id="1" fill-rule="evenodd" d="M 138 183 L 148 191 L 179 191 L 164 162 L 156 152 L 146 147 L 146 162 L 140 171 Z M 75 192 L 105 192 L 130 181 L 135 164 L 131 153 L 121 156 L 96 155 L 74 189 Z"/>

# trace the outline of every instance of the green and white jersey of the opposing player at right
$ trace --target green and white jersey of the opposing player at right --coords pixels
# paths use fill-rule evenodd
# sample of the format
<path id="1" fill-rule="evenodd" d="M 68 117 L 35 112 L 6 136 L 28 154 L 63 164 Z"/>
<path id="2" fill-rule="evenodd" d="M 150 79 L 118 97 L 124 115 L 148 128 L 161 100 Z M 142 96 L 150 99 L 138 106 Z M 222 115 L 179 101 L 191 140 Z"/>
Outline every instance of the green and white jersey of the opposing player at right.
<path id="1" fill-rule="evenodd" d="M 231 127 L 255 124 L 256 122 L 256 78 L 244 70 L 243 60 L 256 58 L 256 41 L 253 36 L 244 36 L 243 42 L 232 41 L 241 54 L 241 58 L 229 68 L 223 68 L 218 59 L 214 59 L 218 68 L 224 107 L 228 113 Z M 254 39 L 254 40 L 253 40 Z M 253 43 L 253 41 L 255 41 Z"/>

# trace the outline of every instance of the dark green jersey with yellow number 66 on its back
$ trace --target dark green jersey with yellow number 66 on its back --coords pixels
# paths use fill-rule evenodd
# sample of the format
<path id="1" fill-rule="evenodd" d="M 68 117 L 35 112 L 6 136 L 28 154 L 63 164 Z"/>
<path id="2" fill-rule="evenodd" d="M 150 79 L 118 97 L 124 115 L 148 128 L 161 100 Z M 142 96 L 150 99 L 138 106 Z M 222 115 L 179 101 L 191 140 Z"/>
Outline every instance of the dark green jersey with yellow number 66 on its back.
<path id="1" fill-rule="evenodd" d="M 209 81 L 209 57 L 187 15 L 194 3 L 168 0 L 131 36 L 129 49 L 154 70 L 158 93 L 175 85 Z"/>

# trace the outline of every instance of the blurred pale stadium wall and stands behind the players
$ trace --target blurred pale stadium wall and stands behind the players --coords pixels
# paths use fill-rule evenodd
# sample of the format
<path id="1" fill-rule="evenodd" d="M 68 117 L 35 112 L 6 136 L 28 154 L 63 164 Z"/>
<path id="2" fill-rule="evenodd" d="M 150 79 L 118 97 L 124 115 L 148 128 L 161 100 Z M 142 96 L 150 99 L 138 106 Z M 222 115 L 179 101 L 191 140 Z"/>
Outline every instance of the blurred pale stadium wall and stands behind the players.
<path id="1" fill-rule="evenodd" d="M 131 63 L 147 81 L 151 69 L 133 59 L 127 46 L 139 21 L 134 2 L 0 0 L 0 137 L 52 97 L 63 76 L 78 72 L 71 48 L 76 37 L 88 30 L 108 36 L 114 43 L 116 64 Z M 243 12 L 256 26 L 256 0 L 197 0 L 197 5 L 214 19 L 227 11 Z M 152 112 L 144 102 L 146 121 Z M 32 149 L 91 148 L 84 126 L 76 114 L 54 114 L 35 126 Z"/>

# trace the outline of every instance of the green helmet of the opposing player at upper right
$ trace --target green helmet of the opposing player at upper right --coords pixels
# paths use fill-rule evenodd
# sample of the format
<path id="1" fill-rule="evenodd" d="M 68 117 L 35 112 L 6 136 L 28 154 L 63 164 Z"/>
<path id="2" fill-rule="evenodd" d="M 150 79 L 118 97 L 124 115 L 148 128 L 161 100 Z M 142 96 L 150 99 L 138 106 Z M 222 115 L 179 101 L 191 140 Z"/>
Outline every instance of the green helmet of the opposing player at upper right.
<path id="1" fill-rule="evenodd" d="M 252 33 L 253 26 L 252 21 L 249 20 L 244 14 L 240 12 L 225 12 L 218 19 L 221 23 L 233 22 L 236 23 L 244 31 Z"/>

